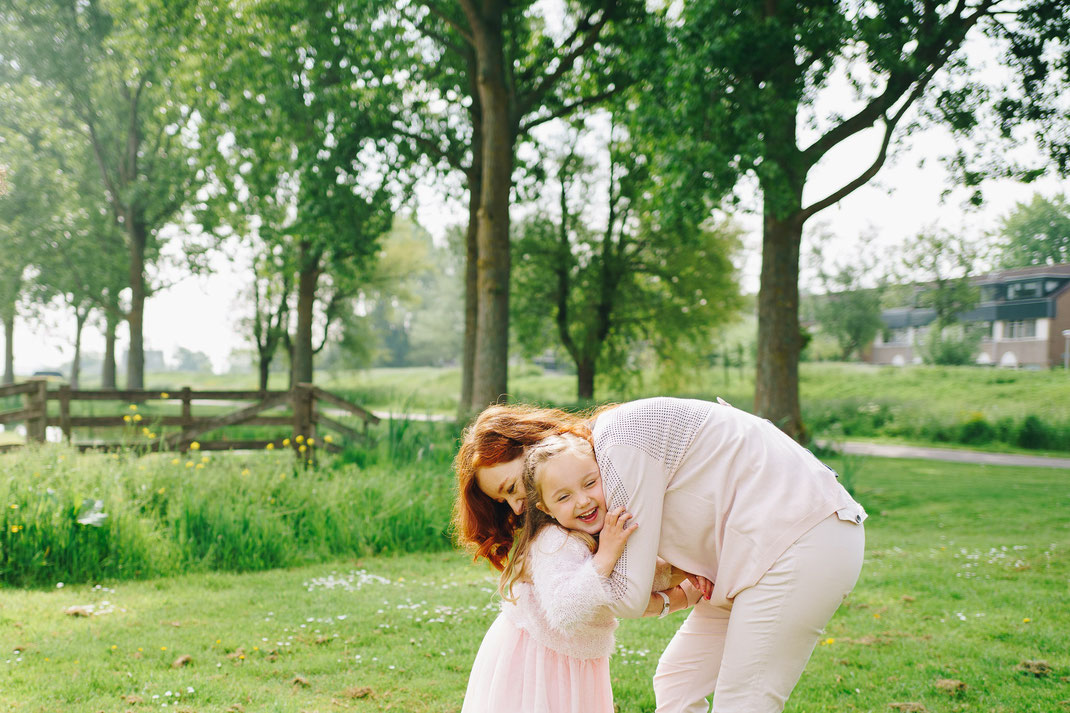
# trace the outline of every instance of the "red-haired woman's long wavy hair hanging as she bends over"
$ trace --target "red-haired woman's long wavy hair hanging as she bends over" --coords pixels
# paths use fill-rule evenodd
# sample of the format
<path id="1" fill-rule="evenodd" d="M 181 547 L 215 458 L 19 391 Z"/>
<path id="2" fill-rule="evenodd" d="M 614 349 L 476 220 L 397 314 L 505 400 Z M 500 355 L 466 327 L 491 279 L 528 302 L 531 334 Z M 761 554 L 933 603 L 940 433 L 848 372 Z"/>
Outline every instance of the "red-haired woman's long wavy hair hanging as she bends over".
<path id="1" fill-rule="evenodd" d="M 590 418 L 591 414 L 534 406 L 490 406 L 464 429 L 454 458 L 457 499 L 453 532 L 457 543 L 472 552 L 473 560 L 484 557 L 495 570 L 504 570 L 513 535 L 520 524 L 507 503 L 498 502 L 479 489 L 476 482 L 479 469 L 516 460 L 524 455 L 524 449 L 548 436 L 567 433 L 590 439 Z"/>

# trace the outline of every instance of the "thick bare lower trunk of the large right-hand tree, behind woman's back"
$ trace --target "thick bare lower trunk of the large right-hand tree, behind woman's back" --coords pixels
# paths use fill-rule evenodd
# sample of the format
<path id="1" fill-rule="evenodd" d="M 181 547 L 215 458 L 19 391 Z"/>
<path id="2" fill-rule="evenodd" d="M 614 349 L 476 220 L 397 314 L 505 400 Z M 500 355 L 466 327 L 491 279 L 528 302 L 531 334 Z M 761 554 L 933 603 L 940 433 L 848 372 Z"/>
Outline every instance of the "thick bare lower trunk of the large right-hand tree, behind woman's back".
<path id="1" fill-rule="evenodd" d="M 785 219 L 765 215 L 762 277 L 758 292 L 758 375 L 754 411 L 792 438 L 805 442 L 799 409 L 799 243 L 797 213 Z"/>

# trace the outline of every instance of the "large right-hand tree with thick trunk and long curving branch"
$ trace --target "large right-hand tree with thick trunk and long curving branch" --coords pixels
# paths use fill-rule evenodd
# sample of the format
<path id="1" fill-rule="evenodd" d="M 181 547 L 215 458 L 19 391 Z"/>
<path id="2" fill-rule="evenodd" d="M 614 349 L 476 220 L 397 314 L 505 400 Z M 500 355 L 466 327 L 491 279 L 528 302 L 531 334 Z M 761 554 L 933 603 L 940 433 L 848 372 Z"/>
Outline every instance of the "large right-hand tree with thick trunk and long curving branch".
<path id="1" fill-rule="evenodd" d="M 980 134 L 992 123 L 987 118 L 997 123 L 989 151 L 952 157 L 954 176 L 967 185 L 993 172 L 1038 175 L 993 157 L 1021 136 L 1021 124 L 1038 127 L 1055 167 L 1070 169 L 1066 118 L 1056 109 L 1067 78 L 1058 47 L 1068 27 L 1063 0 L 683 3 L 649 122 L 664 127 L 682 173 L 714 195 L 740 176 L 760 187 L 758 413 L 806 439 L 798 399 L 802 229 L 876 176 L 897 139 L 919 125 L 912 111 L 923 108 L 924 118 L 958 136 Z M 1012 74 L 989 88 L 961 52 L 982 32 L 1000 43 Z M 850 107 L 825 98 L 835 77 L 852 88 Z M 822 160 L 871 128 L 878 145 L 858 173 L 824 196 L 805 196 Z M 974 155 L 990 164 L 978 166 Z"/>

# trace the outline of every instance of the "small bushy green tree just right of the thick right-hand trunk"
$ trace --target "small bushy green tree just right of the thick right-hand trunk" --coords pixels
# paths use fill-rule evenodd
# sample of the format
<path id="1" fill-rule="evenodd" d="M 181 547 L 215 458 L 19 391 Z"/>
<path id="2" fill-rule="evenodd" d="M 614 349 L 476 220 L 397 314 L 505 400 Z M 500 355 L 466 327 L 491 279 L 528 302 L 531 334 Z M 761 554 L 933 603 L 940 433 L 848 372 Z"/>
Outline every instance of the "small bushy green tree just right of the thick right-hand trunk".
<path id="1" fill-rule="evenodd" d="M 881 331 L 885 278 L 882 258 L 872 249 L 872 238 L 859 239 L 850 258 L 829 256 L 827 238 L 820 239 L 813 262 L 824 294 L 814 297 L 814 317 L 840 347 L 840 359 L 860 353 Z"/>

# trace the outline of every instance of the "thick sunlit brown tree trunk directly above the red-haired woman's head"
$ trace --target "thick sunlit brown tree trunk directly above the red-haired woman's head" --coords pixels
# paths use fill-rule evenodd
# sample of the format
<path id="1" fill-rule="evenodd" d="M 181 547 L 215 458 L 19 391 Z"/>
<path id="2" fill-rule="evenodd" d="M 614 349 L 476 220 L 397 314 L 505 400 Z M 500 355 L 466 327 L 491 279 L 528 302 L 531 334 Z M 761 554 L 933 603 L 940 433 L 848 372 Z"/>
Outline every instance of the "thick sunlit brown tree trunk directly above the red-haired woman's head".
<path id="1" fill-rule="evenodd" d="M 505 81 L 503 12 L 502 6 L 495 5 L 472 22 L 483 108 L 473 410 L 498 401 L 508 389 L 509 189 L 513 185 L 514 131 Z"/>

